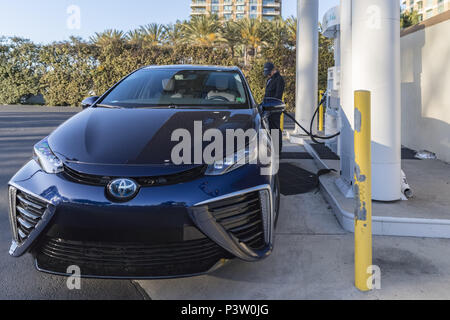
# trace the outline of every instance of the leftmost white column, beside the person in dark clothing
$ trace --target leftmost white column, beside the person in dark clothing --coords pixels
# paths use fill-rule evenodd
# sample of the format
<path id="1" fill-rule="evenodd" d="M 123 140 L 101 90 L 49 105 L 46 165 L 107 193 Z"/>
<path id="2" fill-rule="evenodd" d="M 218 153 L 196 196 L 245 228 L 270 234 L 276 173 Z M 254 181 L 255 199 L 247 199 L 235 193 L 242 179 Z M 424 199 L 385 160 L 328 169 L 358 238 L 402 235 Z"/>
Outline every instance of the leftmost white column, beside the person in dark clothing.
<path id="1" fill-rule="evenodd" d="M 307 130 L 318 97 L 319 1 L 297 0 L 296 120 Z M 304 134 L 299 128 L 296 133 Z"/>

